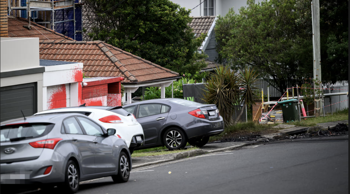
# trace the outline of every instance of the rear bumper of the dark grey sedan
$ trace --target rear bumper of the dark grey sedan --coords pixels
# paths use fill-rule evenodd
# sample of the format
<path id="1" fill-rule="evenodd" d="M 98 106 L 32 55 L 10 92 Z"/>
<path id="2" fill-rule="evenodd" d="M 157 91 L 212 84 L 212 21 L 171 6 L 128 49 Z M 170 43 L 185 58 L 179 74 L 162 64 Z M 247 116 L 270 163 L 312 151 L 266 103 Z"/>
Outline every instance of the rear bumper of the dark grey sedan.
<path id="1" fill-rule="evenodd" d="M 220 116 L 219 120 L 209 121 L 207 119 L 196 118 L 194 121 L 183 126 L 188 139 L 194 137 L 214 136 L 224 132 L 225 124 Z"/>

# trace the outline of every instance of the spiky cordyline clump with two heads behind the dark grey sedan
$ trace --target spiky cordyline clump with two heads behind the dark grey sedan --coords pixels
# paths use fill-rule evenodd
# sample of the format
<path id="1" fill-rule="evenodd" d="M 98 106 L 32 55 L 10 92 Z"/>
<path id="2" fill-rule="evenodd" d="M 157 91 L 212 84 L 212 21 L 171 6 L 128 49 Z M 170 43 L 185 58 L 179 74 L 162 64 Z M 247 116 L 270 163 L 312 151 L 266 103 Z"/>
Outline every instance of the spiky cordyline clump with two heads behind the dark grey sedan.
<path id="1" fill-rule="evenodd" d="M 255 90 L 258 74 L 253 69 L 245 68 L 237 75 L 236 71 L 231 71 L 229 66 L 220 66 L 215 69 L 205 83 L 204 97 L 202 100 L 207 104 L 215 104 L 222 115 L 225 125 L 235 124 L 244 108 L 239 113 L 236 120 L 232 119 L 235 114 L 237 104 L 255 104 L 254 100 L 259 96 Z M 244 88 L 240 90 L 241 88 Z"/>

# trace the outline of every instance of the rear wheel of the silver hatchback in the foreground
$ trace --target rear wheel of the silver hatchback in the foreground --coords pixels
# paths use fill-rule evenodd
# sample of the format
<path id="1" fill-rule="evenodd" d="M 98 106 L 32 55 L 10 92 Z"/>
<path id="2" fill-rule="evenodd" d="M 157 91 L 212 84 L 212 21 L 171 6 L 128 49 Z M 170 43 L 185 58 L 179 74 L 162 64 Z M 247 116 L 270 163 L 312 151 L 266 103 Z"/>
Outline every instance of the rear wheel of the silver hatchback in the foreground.
<path id="1" fill-rule="evenodd" d="M 74 161 L 69 160 L 65 169 L 65 180 L 61 185 L 65 193 L 76 193 L 79 190 L 79 168 Z"/>

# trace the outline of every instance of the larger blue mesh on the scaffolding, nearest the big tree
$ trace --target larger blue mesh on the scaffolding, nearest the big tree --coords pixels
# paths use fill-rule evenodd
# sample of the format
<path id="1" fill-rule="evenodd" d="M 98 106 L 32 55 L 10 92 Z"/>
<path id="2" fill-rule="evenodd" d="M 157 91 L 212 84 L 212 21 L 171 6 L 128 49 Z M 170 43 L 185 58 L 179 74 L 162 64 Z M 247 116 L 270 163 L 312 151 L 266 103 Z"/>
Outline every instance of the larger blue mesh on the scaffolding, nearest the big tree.
<path id="1" fill-rule="evenodd" d="M 55 10 L 55 22 L 74 19 L 73 8 Z M 55 23 L 55 31 L 74 39 L 74 21 Z"/>

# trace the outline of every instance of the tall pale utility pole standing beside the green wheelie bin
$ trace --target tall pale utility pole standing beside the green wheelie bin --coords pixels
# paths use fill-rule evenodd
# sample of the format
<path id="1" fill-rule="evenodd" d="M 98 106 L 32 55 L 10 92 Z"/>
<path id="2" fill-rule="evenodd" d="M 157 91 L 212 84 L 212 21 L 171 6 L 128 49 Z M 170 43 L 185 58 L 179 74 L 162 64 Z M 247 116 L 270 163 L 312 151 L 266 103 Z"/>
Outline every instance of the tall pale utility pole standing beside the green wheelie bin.
<path id="1" fill-rule="evenodd" d="M 322 88 L 321 77 L 321 43 L 320 43 L 320 1 L 313 0 L 311 2 L 311 14 L 312 14 L 312 28 L 313 28 L 313 55 L 314 55 L 314 79 L 318 79 L 320 85 L 318 88 Z M 315 85 L 314 85 L 315 88 Z M 319 110 L 319 114 L 323 113 L 322 107 Z"/>

